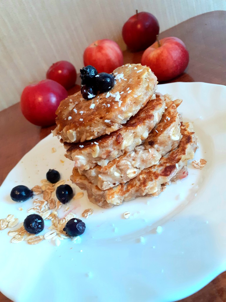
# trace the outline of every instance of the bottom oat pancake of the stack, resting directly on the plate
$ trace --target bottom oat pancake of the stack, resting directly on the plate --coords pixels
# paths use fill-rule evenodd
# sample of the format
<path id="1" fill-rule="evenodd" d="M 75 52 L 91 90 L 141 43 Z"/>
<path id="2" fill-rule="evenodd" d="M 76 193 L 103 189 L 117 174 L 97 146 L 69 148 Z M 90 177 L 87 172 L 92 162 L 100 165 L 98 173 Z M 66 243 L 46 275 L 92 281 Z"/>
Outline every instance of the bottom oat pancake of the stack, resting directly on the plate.
<path id="1" fill-rule="evenodd" d="M 182 138 L 176 149 L 163 156 L 157 165 L 144 169 L 135 178 L 106 191 L 100 190 L 89 182 L 88 178 L 73 169 L 71 181 L 79 188 L 85 189 L 91 202 L 103 208 L 110 208 L 129 201 L 138 196 L 155 196 L 162 190 L 165 183 L 176 179 L 176 175 L 185 171 L 188 160 L 193 159 L 197 149 L 197 139 L 189 123 L 181 123 Z"/>

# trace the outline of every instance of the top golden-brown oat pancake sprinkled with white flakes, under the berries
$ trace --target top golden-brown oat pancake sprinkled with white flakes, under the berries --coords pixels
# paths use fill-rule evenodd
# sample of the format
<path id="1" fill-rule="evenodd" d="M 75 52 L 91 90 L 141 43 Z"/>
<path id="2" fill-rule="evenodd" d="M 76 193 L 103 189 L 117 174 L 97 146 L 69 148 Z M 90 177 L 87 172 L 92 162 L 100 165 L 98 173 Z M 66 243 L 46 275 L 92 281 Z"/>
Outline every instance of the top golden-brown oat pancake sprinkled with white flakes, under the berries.
<path id="1" fill-rule="evenodd" d="M 86 101 L 81 92 L 61 101 L 54 135 L 64 142 L 84 142 L 122 127 L 155 93 L 157 78 L 147 66 L 126 64 L 114 70 L 116 83 Z"/>

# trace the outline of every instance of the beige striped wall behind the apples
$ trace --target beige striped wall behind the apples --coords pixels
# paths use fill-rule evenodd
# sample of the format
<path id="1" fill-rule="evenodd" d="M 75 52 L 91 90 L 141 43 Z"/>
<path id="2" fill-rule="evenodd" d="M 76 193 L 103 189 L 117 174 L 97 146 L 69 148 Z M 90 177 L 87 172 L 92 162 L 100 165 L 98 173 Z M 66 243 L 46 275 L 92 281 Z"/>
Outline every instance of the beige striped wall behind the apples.
<path id="1" fill-rule="evenodd" d="M 1 0 L 0 110 L 20 101 L 23 88 L 68 60 L 77 71 L 93 41 L 119 43 L 124 22 L 138 11 L 156 16 L 160 31 L 198 14 L 226 10 L 226 0 Z"/>

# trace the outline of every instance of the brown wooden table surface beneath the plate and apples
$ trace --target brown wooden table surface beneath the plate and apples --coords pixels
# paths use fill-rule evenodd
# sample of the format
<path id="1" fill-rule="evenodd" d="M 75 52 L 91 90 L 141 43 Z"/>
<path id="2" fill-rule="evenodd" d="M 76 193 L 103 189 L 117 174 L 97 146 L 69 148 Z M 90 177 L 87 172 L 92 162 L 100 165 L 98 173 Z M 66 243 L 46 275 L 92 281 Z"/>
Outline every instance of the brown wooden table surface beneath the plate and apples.
<path id="1" fill-rule="evenodd" d="M 214 11 L 196 16 L 160 34 L 160 38 L 170 36 L 183 40 L 190 54 L 190 62 L 185 73 L 170 82 L 226 84 L 226 11 Z M 142 53 L 125 51 L 124 63 L 140 63 Z M 79 86 L 75 86 L 69 93 L 72 94 L 79 89 Z M 21 157 L 46 137 L 54 127 L 40 128 L 30 124 L 23 117 L 19 103 L 0 112 L 0 128 L 2 129 L 0 185 Z M 0 293 L 0 302 L 10 301 Z M 182 301 L 225 302 L 226 272 L 199 292 L 180 300 Z"/>

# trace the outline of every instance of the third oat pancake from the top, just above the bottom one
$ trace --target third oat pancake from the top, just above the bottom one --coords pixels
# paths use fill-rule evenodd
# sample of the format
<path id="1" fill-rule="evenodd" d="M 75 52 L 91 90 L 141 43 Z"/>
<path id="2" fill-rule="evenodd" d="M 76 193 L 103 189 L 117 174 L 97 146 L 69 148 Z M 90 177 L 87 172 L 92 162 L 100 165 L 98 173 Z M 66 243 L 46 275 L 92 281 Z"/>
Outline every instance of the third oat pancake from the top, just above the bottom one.
<path id="1" fill-rule="evenodd" d="M 140 146 L 112 160 L 105 167 L 96 165 L 93 169 L 78 171 L 101 190 L 107 190 L 124 184 L 143 169 L 157 164 L 162 156 L 178 146 L 180 139 L 180 119 L 177 108 L 171 101 L 167 103 L 159 124 Z"/>

